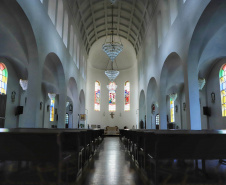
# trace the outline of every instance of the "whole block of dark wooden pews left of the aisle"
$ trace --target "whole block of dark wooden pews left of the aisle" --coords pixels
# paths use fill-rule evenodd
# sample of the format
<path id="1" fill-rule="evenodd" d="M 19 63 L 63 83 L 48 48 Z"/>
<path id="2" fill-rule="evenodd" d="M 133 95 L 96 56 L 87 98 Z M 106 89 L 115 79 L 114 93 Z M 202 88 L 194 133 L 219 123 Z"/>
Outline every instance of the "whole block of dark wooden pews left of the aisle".
<path id="1" fill-rule="evenodd" d="M 68 181 L 76 181 L 85 164 L 94 155 L 90 146 L 93 140 L 99 141 L 94 147 L 95 152 L 102 141 L 100 134 L 99 130 L 1 129 L 0 160 L 2 163 L 16 161 L 18 164 L 26 161 L 35 166 L 39 178 L 34 179 L 38 179 L 38 182 L 33 183 L 51 181 L 54 184 L 67 184 Z M 18 169 L 16 174 L 20 172 L 21 169 Z M 46 179 L 50 174 L 51 178 Z M 20 176 L 22 183 L 29 184 L 26 176 Z"/>

